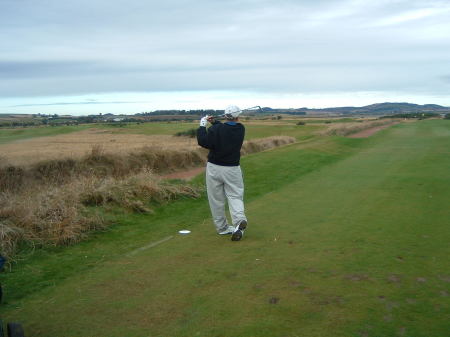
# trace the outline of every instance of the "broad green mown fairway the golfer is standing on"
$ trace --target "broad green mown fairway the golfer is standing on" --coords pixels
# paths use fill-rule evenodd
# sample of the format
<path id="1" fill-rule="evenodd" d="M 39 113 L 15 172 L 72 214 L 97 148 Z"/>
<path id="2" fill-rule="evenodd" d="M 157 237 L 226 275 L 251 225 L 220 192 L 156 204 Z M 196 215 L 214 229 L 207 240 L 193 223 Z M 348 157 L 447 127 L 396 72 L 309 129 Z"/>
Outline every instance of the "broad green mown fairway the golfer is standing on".
<path id="1" fill-rule="evenodd" d="M 118 215 L 2 275 L 0 316 L 27 337 L 448 335 L 449 121 L 297 143 L 242 167 L 241 242 L 215 234 L 204 197 Z"/>

